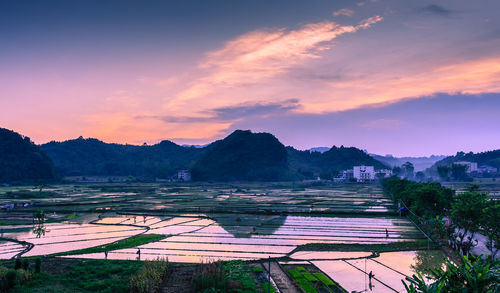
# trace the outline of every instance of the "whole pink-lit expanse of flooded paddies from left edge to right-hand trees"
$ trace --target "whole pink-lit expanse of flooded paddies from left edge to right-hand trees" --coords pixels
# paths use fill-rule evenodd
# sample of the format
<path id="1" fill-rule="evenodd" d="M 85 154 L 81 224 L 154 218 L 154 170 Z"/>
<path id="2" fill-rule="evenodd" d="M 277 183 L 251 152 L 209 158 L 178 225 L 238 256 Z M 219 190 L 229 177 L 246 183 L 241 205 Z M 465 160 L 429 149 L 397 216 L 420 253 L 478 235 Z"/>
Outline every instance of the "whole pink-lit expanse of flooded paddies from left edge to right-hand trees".
<path id="1" fill-rule="evenodd" d="M 406 219 L 395 217 L 112 215 L 100 219 L 96 216 L 95 221 L 88 223 L 47 224 L 45 228 L 45 235 L 40 237 L 31 230 L 7 230 L 4 236 L 34 244 L 25 256 L 35 256 L 103 245 L 141 233 L 165 234 L 169 237 L 137 248 L 141 249 L 144 259 L 161 256 L 174 262 L 281 257 L 298 245 L 308 243 L 375 244 L 422 237 Z M 134 259 L 136 251 L 136 248 L 112 251 L 108 257 Z M 0 257 L 9 258 L 10 253 L 9 250 L 0 252 Z M 81 257 L 102 258 L 104 255 Z"/>

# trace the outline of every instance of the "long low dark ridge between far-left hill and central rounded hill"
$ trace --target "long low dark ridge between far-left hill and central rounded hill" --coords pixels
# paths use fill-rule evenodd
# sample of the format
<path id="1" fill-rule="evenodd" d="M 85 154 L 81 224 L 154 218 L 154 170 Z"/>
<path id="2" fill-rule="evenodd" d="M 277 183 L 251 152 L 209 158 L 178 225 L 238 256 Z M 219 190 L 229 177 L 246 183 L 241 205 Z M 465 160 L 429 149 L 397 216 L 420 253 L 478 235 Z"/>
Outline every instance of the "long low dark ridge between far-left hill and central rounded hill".
<path id="1" fill-rule="evenodd" d="M 136 176 L 167 178 L 176 170 L 190 168 L 203 149 L 182 147 L 164 140 L 155 145 L 122 145 L 82 137 L 49 142 L 41 149 L 65 176 Z"/>

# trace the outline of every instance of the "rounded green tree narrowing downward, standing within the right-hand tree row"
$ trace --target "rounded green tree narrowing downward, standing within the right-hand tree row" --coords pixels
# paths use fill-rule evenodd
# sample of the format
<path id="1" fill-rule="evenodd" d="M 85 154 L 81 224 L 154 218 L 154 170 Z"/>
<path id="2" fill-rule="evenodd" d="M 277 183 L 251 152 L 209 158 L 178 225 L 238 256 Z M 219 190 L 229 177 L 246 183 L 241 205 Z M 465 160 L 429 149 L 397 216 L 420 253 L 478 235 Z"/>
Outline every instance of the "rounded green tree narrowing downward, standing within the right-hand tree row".
<path id="1" fill-rule="evenodd" d="M 451 205 L 451 219 L 463 231 L 458 233 L 462 251 L 467 253 L 473 245 L 474 234 L 479 230 L 483 210 L 487 206 L 484 193 L 465 192 L 455 195 Z M 466 239 L 467 241 L 464 241 Z"/>

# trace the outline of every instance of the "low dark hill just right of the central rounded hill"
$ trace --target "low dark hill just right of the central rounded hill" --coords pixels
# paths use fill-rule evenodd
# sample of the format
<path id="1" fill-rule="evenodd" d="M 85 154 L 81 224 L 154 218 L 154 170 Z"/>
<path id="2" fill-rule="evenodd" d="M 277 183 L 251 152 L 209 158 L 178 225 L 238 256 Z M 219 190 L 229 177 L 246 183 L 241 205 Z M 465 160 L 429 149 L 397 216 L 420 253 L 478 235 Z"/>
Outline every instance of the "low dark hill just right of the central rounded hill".
<path id="1" fill-rule="evenodd" d="M 375 169 L 389 168 L 355 147 L 333 146 L 323 153 L 299 151 L 287 147 L 287 152 L 290 168 L 309 178 L 319 174 L 336 175 L 335 173 L 359 165 L 374 166 Z"/>

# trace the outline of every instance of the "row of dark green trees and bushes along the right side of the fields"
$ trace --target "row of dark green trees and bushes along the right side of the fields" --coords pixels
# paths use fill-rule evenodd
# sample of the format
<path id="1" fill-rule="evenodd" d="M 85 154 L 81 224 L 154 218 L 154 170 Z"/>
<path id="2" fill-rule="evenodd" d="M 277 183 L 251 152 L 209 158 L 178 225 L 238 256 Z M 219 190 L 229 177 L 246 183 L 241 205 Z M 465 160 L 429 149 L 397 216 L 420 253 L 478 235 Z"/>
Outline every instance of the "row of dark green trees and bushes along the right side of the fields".
<path id="1" fill-rule="evenodd" d="M 426 285 L 421 276 L 413 276 L 409 278 L 408 292 L 463 292 L 470 289 L 473 291 L 468 292 L 498 292 L 494 290 L 499 289 L 500 281 L 500 263 L 495 258 L 500 249 L 500 202 L 479 192 L 477 185 L 457 193 L 435 182 L 414 182 L 397 177 L 381 182 L 384 190 L 395 201 L 401 202 L 403 209 L 409 209 L 417 224 L 429 227 L 431 237 L 438 243 L 447 243 L 464 255 L 463 266 L 468 266 L 448 263 L 447 271 L 432 271 L 435 282 L 431 285 Z M 487 259 L 466 257 L 477 245 L 474 240 L 476 233 L 487 238 L 486 247 L 491 251 Z M 481 274 L 485 268 L 488 273 Z"/>

